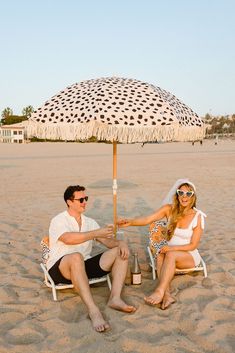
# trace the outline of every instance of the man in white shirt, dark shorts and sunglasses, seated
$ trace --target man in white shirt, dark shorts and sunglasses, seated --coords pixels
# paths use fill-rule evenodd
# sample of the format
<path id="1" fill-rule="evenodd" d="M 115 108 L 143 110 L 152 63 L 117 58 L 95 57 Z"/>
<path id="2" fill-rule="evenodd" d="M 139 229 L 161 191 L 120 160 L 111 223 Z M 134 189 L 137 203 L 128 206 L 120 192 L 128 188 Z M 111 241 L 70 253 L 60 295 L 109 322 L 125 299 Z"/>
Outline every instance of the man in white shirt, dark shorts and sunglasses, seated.
<path id="1" fill-rule="evenodd" d="M 88 278 L 111 272 L 108 306 L 126 313 L 134 312 L 136 308 L 121 299 L 129 250 L 125 242 L 113 238 L 113 225 L 99 228 L 96 221 L 83 215 L 88 201 L 84 186 L 69 186 L 64 192 L 64 200 L 68 209 L 54 217 L 50 224 L 47 268 L 56 284 L 72 282 L 87 307 L 94 329 L 102 332 L 110 326 L 93 300 Z M 93 240 L 109 250 L 91 258 Z"/>

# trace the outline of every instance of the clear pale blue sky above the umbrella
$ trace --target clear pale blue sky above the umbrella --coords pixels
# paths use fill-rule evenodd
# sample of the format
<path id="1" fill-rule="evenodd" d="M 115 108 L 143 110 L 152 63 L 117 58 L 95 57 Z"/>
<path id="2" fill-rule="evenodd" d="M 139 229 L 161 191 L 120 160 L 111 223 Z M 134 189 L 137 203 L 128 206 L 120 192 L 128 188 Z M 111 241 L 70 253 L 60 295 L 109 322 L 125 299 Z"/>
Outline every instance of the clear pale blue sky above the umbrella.
<path id="1" fill-rule="evenodd" d="M 0 0 L 0 39 L 0 112 L 120 76 L 235 113 L 234 0 Z"/>

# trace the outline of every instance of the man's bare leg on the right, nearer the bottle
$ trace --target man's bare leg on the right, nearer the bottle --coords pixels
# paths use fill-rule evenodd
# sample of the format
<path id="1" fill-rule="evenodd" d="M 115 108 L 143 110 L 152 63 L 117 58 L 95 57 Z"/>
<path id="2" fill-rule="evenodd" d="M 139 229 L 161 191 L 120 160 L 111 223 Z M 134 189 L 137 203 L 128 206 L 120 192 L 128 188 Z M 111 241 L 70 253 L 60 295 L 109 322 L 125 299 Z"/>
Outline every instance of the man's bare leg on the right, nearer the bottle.
<path id="1" fill-rule="evenodd" d="M 133 313 L 136 308 L 128 305 L 121 298 L 123 284 L 126 278 L 128 259 L 123 260 L 118 255 L 118 248 L 107 250 L 100 258 L 100 267 L 104 271 L 112 271 L 112 289 L 108 300 L 108 306 L 112 309 Z"/>

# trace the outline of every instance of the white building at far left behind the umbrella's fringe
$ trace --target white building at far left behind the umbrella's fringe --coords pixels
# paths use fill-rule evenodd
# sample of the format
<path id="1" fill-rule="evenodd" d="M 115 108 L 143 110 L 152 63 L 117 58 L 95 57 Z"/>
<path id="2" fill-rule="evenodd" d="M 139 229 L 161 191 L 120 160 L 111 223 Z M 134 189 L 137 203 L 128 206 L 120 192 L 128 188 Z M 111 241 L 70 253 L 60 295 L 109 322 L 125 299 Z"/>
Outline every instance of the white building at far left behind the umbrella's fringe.
<path id="1" fill-rule="evenodd" d="M 25 126 L 19 124 L 0 126 L 0 142 L 24 143 L 26 142 Z"/>

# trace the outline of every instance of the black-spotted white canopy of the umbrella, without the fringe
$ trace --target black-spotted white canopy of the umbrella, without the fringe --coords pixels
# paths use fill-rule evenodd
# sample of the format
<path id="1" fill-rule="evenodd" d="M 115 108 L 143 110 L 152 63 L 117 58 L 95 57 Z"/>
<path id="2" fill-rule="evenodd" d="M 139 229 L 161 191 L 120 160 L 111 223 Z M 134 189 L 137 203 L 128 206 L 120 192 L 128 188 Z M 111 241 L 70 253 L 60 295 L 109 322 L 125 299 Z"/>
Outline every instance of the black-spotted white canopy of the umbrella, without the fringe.
<path id="1" fill-rule="evenodd" d="M 202 120 L 171 93 L 125 78 L 87 80 L 67 87 L 36 110 L 39 123 L 85 124 L 92 120 L 117 126 L 202 126 Z"/>

